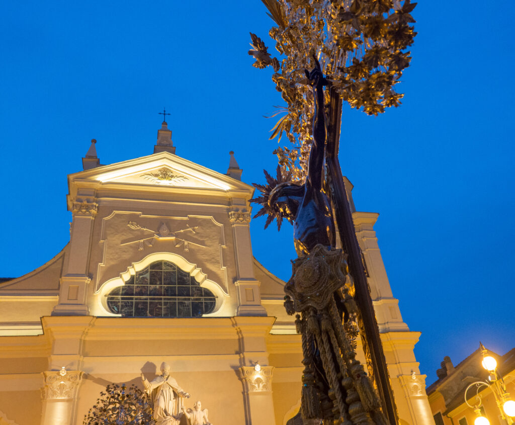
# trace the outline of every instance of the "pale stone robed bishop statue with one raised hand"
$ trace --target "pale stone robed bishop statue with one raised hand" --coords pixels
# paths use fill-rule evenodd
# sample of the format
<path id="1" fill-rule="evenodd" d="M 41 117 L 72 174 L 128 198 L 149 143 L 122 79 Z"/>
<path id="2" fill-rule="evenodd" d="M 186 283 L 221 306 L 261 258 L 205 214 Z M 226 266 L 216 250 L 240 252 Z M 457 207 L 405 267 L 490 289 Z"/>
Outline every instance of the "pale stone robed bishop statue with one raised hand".
<path id="1" fill-rule="evenodd" d="M 145 392 L 153 402 L 153 419 L 157 425 L 179 425 L 184 407 L 184 398 L 190 398 L 177 381 L 170 377 L 168 363 L 161 364 L 161 375 L 148 382 L 143 373 L 141 380 Z"/>

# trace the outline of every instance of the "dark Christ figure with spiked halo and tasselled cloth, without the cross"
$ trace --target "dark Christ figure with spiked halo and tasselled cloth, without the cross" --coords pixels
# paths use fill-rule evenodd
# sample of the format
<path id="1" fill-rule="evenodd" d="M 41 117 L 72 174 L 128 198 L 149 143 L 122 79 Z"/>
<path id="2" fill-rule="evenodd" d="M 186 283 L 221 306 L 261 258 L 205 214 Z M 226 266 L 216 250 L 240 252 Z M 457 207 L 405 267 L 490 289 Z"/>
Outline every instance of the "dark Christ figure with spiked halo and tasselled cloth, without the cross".
<path id="1" fill-rule="evenodd" d="M 328 82 L 314 60 L 315 68 L 305 71 L 315 99 L 306 181 L 302 185 L 285 181 L 289 176 L 283 179 L 279 169 L 277 179 L 265 172 L 268 185 L 254 184 L 261 196 L 251 201 L 263 206 L 256 216 L 268 214 L 265 227 L 274 218 L 279 228 L 283 218 L 294 226 L 299 258 L 292 262 L 292 277 L 284 287 L 284 305 L 288 314 L 298 313 L 296 326 L 302 335 L 303 419 L 383 425 L 386 419 L 379 397 L 355 358 L 356 333 L 351 323 L 359 314 L 355 288 L 347 256 L 335 248 L 333 206 L 327 193 L 331 186 L 325 181 L 326 158 L 334 153 L 326 141 L 323 87 Z"/>

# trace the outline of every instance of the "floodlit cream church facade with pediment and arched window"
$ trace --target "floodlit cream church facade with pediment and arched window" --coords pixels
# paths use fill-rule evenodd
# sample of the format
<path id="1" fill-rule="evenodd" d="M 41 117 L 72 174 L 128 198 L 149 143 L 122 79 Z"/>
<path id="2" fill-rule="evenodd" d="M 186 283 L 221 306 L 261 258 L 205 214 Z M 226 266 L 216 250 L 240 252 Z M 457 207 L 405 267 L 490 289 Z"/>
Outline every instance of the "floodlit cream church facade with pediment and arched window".
<path id="1" fill-rule="evenodd" d="M 213 424 L 286 425 L 300 336 L 284 282 L 252 256 L 253 188 L 232 152 L 227 174 L 187 161 L 163 122 L 152 155 L 100 165 L 92 143 L 83 168 L 68 176 L 70 242 L 0 283 L 0 424 L 79 425 L 106 385 L 143 388 L 164 362 Z M 353 210 L 399 418 L 434 423 L 377 216 Z"/>

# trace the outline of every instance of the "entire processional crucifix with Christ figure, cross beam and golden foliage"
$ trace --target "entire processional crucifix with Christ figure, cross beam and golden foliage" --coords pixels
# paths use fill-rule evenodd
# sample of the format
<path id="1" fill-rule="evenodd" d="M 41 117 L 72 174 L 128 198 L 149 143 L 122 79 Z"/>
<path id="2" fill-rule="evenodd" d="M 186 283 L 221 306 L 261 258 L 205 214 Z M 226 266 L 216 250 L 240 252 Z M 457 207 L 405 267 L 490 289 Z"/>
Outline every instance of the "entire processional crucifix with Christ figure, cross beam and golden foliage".
<path id="1" fill-rule="evenodd" d="M 385 417 L 387 423 L 397 425 L 338 148 L 344 100 L 368 115 L 401 104 L 403 94 L 395 86 L 411 60 L 407 48 L 417 33 L 410 25 L 415 22 L 410 13 L 416 3 L 262 1 L 273 20 L 268 35 L 281 56 L 272 58 L 253 33 L 248 54 L 255 59 L 254 67 L 273 69 L 272 81 L 286 106 L 279 109 L 278 113 L 285 115 L 272 129 L 270 139 L 278 137 L 280 141 L 285 132 L 290 147 L 274 150 L 279 158 L 277 179 L 265 172 L 268 184 L 254 184 L 262 192 L 254 201 L 263 206 L 256 216 L 268 214 L 265 228 L 274 218 L 278 227 L 283 218 L 294 224 L 299 258 L 285 286 L 285 308 L 289 314 L 299 313 L 296 322 L 305 365 L 302 415 L 323 419 L 324 425 L 382 423 Z M 313 57 L 316 66 L 306 73 L 306 81 L 302 71 L 312 66 Z M 310 81 L 313 90 L 306 85 Z M 326 84 L 329 90 L 324 93 Z M 304 179 L 302 185 L 293 182 Z M 342 252 L 335 249 L 336 243 Z M 355 360 L 356 328 L 368 377 Z"/>

